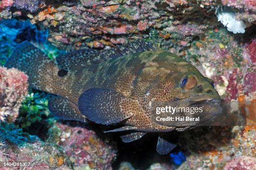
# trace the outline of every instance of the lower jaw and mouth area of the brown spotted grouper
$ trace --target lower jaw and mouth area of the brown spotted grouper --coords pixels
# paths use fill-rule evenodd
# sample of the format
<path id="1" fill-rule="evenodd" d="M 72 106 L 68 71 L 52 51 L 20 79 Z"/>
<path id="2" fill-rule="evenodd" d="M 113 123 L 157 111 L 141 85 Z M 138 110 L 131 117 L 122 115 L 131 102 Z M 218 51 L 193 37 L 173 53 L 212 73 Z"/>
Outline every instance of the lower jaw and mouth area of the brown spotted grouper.
<path id="1" fill-rule="evenodd" d="M 153 104 L 152 104 L 153 103 Z M 161 114 L 156 115 L 156 107 L 176 107 L 178 108 L 201 108 L 202 112 L 184 112 L 184 110 L 180 112 L 161 112 Z M 212 121 L 215 117 L 219 116 L 222 113 L 222 108 L 220 107 L 220 98 L 212 97 L 210 95 L 195 95 L 192 97 L 187 97 L 181 100 L 175 101 L 154 101 L 151 102 L 151 119 L 154 122 L 157 122 L 159 125 L 165 125 L 169 127 L 175 128 L 184 128 L 189 129 L 192 126 L 200 126 L 206 125 L 207 122 Z M 174 117 L 174 121 L 158 121 L 156 117 Z M 189 117 L 191 120 L 176 120 L 176 117 Z M 195 118 L 200 117 L 200 120 L 195 121 Z"/>

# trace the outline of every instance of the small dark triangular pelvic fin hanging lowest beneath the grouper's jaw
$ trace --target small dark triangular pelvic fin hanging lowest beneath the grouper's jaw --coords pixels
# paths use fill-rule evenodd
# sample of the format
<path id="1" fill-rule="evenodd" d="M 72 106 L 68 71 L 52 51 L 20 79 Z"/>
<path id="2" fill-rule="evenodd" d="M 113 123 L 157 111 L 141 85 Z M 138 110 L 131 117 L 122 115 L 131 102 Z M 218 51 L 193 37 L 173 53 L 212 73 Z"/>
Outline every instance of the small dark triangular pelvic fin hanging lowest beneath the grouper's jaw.
<path id="1" fill-rule="evenodd" d="M 173 150 L 177 145 L 174 143 L 169 142 L 168 140 L 162 138 L 160 135 L 158 137 L 157 145 L 156 145 L 156 151 L 161 154 L 167 154 L 171 150 Z"/>

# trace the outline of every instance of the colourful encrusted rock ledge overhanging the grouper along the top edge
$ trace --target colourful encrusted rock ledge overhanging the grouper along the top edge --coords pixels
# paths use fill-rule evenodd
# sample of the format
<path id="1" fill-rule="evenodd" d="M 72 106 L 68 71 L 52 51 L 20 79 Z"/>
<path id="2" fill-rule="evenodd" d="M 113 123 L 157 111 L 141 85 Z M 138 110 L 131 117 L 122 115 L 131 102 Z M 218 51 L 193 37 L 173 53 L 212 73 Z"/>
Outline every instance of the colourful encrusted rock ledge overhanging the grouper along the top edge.
<path id="1" fill-rule="evenodd" d="M 125 0 L 122 3 L 119 0 L 80 0 L 73 3 L 64 0 L 61 5 L 57 2 L 17 0 L 13 6 L 25 11 L 19 11 L 20 15 L 13 16 L 23 16 L 41 28 L 48 28 L 49 41 L 64 50 L 92 46 L 95 41 L 102 44 L 96 44 L 95 47 L 112 46 L 110 38 L 113 37 L 142 37 L 150 40 L 154 34 L 148 34 L 148 30 L 155 30 L 154 39 L 162 46 L 166 46 L 163 37 L 170 39 L 168 43 L 172 46 L 182 39 L 184 41 L 184 38 L 185 41 L 191 41 L 197 36 L 205 35 L 205 30 L 220 25 L 215 11 L 222 5 L 233 8 L 237 20 L 243 20 L 248 25 L 256 22 L 255 4 L 249 0 L 223 0 L 222 3 L 211 0 Z M 33 13 L 27 13 L 26 10 Z M 9 12 L 18 13 L 17 9 L 10 9 Z M 1 13 L 0 16 L 3 18 L 10 16 Z"/>

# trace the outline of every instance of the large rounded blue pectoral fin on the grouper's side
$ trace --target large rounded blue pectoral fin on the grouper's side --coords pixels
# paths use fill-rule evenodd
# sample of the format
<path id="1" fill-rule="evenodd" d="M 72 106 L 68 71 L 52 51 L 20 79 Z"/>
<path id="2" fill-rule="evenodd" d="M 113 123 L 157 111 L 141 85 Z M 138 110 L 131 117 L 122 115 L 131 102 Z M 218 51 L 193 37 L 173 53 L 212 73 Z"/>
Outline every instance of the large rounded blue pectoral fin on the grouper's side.
<path id="1" fill-rule="evenodd" d="M 109 125 L 133 116 L 139 104 L 114 90 L 91 88 L 80 95 L 78 106 L 89 120 Z"/>

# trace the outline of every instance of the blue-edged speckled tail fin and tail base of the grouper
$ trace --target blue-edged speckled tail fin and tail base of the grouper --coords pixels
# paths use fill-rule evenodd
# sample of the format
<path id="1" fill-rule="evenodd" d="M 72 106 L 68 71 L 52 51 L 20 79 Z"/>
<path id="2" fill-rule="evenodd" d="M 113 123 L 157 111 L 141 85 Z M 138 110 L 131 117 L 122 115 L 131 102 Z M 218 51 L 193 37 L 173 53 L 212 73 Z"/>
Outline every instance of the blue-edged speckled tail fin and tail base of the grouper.
<path id="1" fill-rule="evenodd" d="M 53 88 L 47 82 L 51 84 L 54 71 L 59 70 L 58 66 L 30 42 L 23 41 L 17 45 L 4 66 L 26 72 L 30 87 L 53 93 Z"/>

